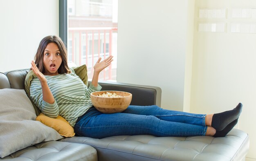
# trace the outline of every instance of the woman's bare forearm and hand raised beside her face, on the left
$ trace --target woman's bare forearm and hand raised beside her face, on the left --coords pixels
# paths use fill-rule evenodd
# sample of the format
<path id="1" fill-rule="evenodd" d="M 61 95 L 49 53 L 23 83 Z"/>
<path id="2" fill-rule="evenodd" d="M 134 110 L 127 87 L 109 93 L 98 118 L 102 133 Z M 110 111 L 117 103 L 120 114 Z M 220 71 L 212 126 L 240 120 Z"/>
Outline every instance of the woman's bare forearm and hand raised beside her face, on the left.
<path id="1" fill-rule="evenodd" d="M 51 92 L 51 90 L 50 90 L 50 88 L 47 84 L 47 80 L 45 78 L 45 75 L 43 75 L 43 73 L 41 73 L 38 70 L 34 61 L 31 62 L 31 65 L 32 65 L 31 66 L 32 71 L 36 74 L 36 76 L 38 77 L 38 79 L 40 81 L 40 84 L 42 86 L 43 100 L 46 101 L 49 104 L 53 104 L 55 99 L 54 99 L 54 97 L 52 95 L 52 92 Z"/>

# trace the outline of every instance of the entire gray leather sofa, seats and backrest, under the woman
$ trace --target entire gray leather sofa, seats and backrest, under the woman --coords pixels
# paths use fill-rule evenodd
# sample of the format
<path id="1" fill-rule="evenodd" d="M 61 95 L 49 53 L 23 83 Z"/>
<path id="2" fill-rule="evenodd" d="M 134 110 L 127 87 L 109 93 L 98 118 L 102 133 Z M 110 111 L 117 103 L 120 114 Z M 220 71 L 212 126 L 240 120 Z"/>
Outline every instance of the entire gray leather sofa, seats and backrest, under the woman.
<path id="1" fill-rule="evenodd" d="M 28 69 L 0 73 L 0 89 L 24 89 Z M 102 90 L 132 93 L 131 105 L 161 104 L 161 89 L 100 82 Z M 114 136 L 103 139 L 70 137 L 38 143 L 14 152 L 3 161 L 244 161 L 249 150 L 247 133 L 233 129 L 226 137 Z"/>

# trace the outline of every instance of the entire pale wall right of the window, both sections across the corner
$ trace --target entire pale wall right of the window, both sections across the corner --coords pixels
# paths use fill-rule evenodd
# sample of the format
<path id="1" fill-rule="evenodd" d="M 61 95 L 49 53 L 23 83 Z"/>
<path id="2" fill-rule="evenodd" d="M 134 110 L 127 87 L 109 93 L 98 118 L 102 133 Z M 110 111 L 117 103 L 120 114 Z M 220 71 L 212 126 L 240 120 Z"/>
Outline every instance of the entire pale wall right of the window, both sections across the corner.
<path id="1" fill-rule="evenodd" d="M 194 7 L 194 9 L 193 9 Z M 232 8 L 255 0 L 119 0 L 117 81 L 162 88 L 162 108 L 215 113 L 244 105 L 238 126 L 256 159 L 256 34 L 231 33 Z M 226 19 L 199 19 L 199 8 L 226 8 Z M 198 22 L 225 22 L 225 33 L 198 33 Z M 192 54 L 193 53 L 193 54 Z M 193 59 L 193 62 L 192 62 Z"/>

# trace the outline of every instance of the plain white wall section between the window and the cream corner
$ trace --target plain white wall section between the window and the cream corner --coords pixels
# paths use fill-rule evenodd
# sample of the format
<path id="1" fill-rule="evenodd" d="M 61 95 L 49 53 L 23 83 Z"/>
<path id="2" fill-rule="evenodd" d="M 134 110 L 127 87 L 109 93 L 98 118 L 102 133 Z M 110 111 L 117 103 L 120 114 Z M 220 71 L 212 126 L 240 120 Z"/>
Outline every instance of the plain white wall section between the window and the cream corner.
<path id="1" fill-rule="evenodd" d="M 167 109 L 183 110 L 188 4 L 118 3 L 117 82 L 161 87 L 162 107 Z"/>

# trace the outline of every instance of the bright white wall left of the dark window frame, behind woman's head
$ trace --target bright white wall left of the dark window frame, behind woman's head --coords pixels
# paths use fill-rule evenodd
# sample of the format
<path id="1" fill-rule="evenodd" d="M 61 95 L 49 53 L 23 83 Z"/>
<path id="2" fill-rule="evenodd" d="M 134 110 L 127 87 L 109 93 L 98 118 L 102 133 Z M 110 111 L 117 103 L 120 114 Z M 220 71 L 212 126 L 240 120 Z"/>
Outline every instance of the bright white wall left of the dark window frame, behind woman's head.
<path id="1" fill-rule="evenodd" d="M 0 71 L 30 68 L 47 35 L 58 35 L 58 0 L 0 0 Z"/>

